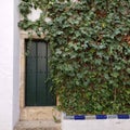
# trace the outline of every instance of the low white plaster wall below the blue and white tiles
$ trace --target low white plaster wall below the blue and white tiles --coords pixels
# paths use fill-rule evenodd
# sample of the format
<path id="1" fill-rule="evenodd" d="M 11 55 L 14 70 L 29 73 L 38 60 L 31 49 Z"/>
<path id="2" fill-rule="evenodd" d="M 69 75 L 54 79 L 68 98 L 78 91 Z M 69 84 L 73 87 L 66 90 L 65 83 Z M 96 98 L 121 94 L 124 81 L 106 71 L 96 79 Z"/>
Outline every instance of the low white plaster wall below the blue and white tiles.
<path id="1" fill-rule="evenodd" d="M 130 119 L 63 120 L 62 130 L 130 130 Z"/>

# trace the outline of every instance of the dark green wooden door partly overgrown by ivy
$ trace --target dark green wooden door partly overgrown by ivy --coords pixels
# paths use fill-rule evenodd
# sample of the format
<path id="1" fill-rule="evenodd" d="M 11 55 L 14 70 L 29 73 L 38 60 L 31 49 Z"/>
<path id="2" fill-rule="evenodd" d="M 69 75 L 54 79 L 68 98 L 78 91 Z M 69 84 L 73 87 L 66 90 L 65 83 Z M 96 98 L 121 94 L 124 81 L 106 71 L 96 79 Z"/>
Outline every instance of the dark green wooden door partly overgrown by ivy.
<path id="1" fill-rule="evenodd" d="M 26 106 L 54 106 L 55 96 L 50 92 L 48 79 L 48 43 L 42 40 L 26 41 Z"/>

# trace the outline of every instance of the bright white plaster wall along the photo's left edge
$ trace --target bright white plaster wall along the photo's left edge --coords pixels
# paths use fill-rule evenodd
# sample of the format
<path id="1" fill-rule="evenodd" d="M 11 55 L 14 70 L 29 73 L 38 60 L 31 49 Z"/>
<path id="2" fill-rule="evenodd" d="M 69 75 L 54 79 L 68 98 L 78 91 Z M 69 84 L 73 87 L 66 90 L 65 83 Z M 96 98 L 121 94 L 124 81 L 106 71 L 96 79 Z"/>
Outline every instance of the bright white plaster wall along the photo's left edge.
<path id="1" fill-rule="evenodd" d="M 16 0 L 15 0 L 16 1 Z M 0 1 L 0 130 L 13 130 L 13 125 L 17 120 L 17 103 L 13 100 L 16 95 L 13 89 L 16 89 L 17 68 L 14 68 L 13 62 L 17 61 L 14 53 L 14 0 Z M 16 57 L 15 57 L 16 56 Z M 13 57 L 15 58 L 13 61 Z M 16 63 L 17 64 L 17 63 Z M 18 64 L 17 64 L 18 65 Z M 16 66 L 15 66 L 16 67 Z M 13 70 L 16 69 L 16 70 Z M 16 78 L 17 79 L 17 78 Z M 13 86 L 14 84 L 14 86 Z M 14 87 L 14 88 L 13 88 Z M 13 96 L 14 94 L 14 96 Z M 15 109 L 15 115 L 13 112 Z"/>

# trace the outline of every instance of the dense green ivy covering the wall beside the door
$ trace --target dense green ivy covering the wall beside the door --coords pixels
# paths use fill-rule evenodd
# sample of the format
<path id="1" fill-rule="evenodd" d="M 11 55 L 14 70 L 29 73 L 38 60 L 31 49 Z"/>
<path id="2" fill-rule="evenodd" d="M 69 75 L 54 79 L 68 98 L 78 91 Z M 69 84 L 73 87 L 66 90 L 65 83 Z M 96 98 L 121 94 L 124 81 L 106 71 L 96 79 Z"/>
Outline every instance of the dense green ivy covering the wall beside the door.
<path id="1" fill-rule="evenodd" d="M 21 2 L 20 27 L 46 32 L 58 108 L 67 114 L 130 114 L 130 0 L 41 3 L 40 18 L 30 22 L 35 0 Z"/>

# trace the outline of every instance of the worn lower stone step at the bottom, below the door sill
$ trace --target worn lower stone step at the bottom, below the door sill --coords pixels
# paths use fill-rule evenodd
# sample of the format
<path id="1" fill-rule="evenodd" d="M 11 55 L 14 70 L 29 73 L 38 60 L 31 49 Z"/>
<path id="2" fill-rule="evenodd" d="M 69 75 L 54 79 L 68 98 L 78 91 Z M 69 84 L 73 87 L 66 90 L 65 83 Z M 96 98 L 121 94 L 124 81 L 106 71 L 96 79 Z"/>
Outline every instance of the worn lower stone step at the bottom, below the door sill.
<path id="1" fill-rule="evenodd" d="M 20 121 L 14 130 L 61 130 L 61 123 L 53 120 Z"/>

